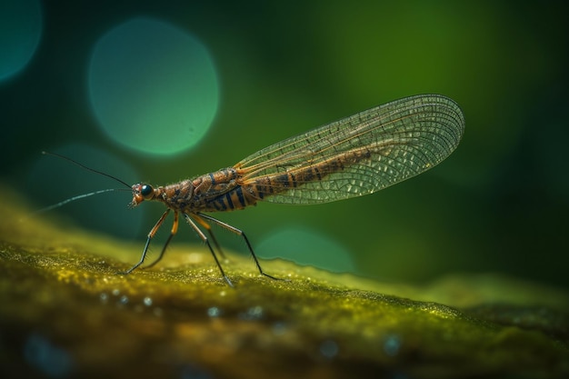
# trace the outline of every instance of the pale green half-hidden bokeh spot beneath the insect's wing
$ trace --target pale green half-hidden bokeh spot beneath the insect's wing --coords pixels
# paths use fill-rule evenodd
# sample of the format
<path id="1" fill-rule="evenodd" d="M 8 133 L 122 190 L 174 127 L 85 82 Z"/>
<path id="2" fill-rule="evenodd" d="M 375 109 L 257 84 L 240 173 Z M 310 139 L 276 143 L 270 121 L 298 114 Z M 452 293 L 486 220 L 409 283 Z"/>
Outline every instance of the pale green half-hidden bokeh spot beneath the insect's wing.
<path id="1" fill-rule="evenodd" d="M 350 253 L 344 246 L 329 235 L 308 228 L 292 226 L 269 234 L 255 251 L 264 259 L 282 258 L 335 273 L 355 270 Z"/>

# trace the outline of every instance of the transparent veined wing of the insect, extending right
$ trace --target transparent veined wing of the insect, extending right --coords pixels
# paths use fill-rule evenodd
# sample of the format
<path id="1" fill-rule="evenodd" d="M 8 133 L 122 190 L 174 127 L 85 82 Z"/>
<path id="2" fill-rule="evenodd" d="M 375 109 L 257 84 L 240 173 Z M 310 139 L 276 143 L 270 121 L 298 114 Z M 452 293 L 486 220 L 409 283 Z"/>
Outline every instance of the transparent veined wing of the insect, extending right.
<path id="1" fill-rule="evenodd" d="M 372 194 L 439 164 L 464 133 L 442 95 L 379 105 L 249 155 L 235 165 L 259 200 L 319 204 Z"/>

